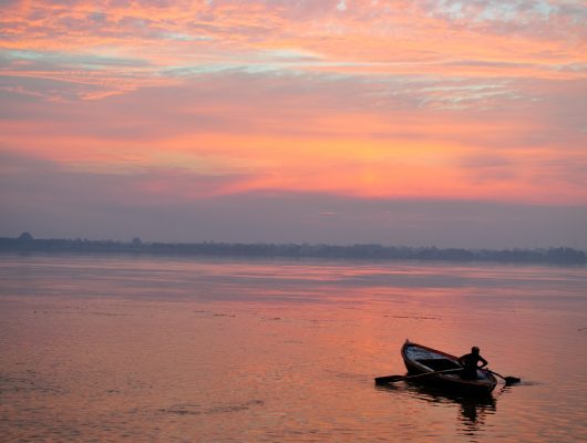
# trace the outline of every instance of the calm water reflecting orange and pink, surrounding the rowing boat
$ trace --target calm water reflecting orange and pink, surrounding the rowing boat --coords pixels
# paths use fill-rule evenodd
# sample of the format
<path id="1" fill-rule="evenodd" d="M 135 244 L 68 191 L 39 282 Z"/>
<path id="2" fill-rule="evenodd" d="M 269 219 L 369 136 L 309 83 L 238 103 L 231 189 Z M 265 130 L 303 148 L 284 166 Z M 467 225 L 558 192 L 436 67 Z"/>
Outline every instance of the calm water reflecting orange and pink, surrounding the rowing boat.
<path id="1" fill-rule="evenodd" d="M 409 338 L 523 379 L 471 401 Z M 0 440 L 587 440 L 587 268 L 0 256 Z"/>

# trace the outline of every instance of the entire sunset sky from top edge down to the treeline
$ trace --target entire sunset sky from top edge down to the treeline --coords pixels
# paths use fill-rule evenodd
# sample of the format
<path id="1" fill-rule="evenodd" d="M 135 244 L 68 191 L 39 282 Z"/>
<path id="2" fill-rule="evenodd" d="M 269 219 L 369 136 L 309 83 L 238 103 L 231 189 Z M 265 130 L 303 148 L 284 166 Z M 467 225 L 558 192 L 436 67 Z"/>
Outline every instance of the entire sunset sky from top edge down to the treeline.
<path id="1" fill-rule="evenodd" d="M 587 1 L 0 7 L 0 236 L 587 249 Z"/>

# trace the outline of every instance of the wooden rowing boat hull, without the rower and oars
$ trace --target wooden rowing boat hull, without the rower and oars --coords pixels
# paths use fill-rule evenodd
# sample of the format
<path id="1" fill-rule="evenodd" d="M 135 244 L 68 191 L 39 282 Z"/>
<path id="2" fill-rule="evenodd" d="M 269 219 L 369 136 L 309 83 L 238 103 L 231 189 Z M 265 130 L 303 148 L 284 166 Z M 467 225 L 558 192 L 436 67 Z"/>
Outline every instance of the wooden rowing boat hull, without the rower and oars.
<path id="1" fill-rule="evenodd" d="M 460 375 L 463 365 L 459 358 L 450 353 L 412 343 L 405 340 L 402 347 L 402 358 L 410 374 L 425 374 L 439 372 L 426 377 L 418 377 L 412 380 L 426 383 L 435 383 L 443 389 L 460 391 L 467 394 L 490 394 L 497 380 L 487 370 L 478 369 L 476 380 L 462 379 Z"/>

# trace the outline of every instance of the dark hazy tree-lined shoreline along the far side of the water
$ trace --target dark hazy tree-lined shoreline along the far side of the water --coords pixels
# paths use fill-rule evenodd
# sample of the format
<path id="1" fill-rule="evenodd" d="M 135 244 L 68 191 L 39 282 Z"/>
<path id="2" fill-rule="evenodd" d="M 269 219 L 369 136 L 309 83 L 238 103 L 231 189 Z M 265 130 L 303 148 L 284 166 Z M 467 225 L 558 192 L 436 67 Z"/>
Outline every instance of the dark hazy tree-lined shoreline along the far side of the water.
<path id="1" fill-rule="evenodd" d="M 86 253 L 133 254 L 184 257 L 231 258 L 322 258 L 353 260 L 428 260 L 428 261 L 485 261 L 505 264 L 585 265 L 587 254 L 579 249 L 553 247 L 539 249 L 461 249 L 436 247 L 403 247 L 371 245 L 320 244 L 229 244 L 229 243 L 143 243 L 35 239 L 29 233 L 19 237 L 0 237 L 0 253 Z"/>

